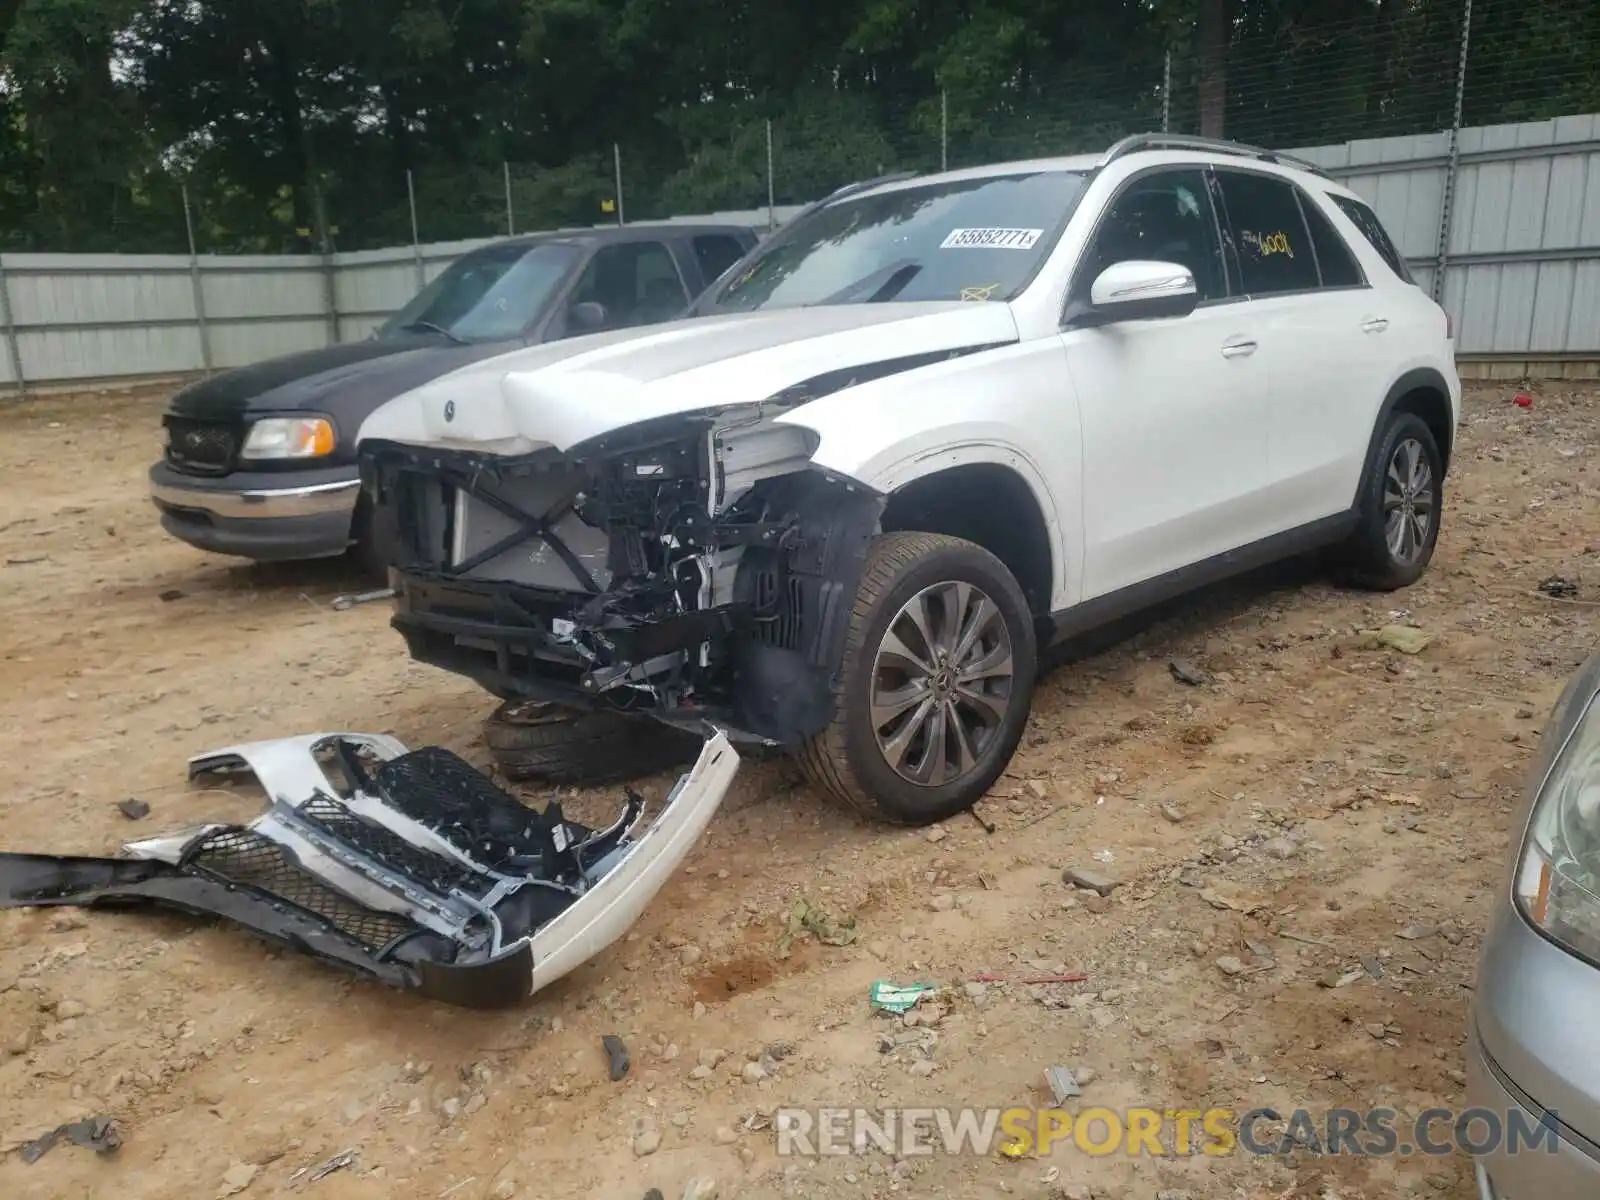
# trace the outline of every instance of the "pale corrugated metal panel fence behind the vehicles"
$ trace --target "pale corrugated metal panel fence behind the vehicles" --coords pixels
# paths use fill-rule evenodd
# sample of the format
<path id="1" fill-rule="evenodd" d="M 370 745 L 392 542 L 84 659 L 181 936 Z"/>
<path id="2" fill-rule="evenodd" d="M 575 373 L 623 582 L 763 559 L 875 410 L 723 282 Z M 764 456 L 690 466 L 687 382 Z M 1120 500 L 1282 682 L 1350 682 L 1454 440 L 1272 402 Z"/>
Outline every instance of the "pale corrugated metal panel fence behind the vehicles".
<path id="1" fill-rule="evenodd" d="M 1365 195 L 1464 358 L 1600 374 L 1600 115 L 1317 146 Z M 786 219 L 794 210 L 778 210 Z M 707 218 L 768 224 L 768 211 Z M 182 374 L 365 338 L 482 242 L 346 254 L 0 256 L 0 387 Z M 1440 272 L 1443 272 L 1440 275 Z M 1442 278 L 1442 286 L 1435 283 Z"/>

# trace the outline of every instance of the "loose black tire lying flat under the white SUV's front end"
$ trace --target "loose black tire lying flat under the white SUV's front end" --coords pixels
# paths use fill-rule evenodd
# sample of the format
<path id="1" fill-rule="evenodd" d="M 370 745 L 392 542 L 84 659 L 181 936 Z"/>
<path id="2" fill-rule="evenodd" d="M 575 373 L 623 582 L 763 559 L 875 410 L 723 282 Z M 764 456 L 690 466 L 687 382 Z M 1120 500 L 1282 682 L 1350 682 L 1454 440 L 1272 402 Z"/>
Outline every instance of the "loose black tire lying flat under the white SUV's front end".
<path id="1" fill-rule="evenodd" d="M 483 722 L 501 774 L 517 782 L 619 784 L 694 760 L 699 739 L 650 717 L 581 712 L 542 701 L 507 701 Z"/>

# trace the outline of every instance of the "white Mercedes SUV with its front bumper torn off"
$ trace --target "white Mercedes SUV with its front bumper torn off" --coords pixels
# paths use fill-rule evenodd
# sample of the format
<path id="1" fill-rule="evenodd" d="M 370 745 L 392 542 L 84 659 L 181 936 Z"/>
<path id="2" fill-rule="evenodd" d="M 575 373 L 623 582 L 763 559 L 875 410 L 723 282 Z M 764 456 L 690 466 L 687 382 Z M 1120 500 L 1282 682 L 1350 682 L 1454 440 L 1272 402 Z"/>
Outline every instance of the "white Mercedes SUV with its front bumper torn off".
<path id="1" fill-rule="evenodd" d="M 363 480 L 416 659 L 922 824 L 1006 766 L 1051 642 L 1318 547 L 1413 582 L 1459 397 L 1358 195 L 1142 134 L 842 189 L 683 320 L 390 402 Z"/>

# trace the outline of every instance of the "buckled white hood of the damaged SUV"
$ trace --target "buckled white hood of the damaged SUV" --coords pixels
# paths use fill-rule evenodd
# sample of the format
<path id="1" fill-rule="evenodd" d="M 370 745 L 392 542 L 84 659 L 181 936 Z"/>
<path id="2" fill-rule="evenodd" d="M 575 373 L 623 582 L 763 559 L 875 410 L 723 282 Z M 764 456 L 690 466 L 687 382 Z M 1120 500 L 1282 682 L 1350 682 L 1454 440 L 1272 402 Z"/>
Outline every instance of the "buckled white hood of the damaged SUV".
<path id="1" fill-rule="evenodd" d="M 390 400 L 360 438 L 512 454 L 757 403 L 829 371 L 1014 342 L 1008 304 L 843 304 L 696 317 L 534 346 Z"/>

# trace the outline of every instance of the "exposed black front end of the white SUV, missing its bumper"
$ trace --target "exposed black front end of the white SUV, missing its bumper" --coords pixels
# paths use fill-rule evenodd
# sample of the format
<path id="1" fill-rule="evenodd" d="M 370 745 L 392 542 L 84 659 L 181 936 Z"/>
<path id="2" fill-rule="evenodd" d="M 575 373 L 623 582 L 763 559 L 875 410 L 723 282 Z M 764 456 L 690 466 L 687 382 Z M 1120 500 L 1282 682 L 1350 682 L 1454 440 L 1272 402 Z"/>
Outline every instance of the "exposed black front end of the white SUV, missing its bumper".
<path id="1" fill-rule="evenodd" d="M 566 453 L 363 442 L 411 656 L 506 699 L 789 746 L 821 731 L 883 498 L 814 470 L 811 435 L 773 413 Z"/>

